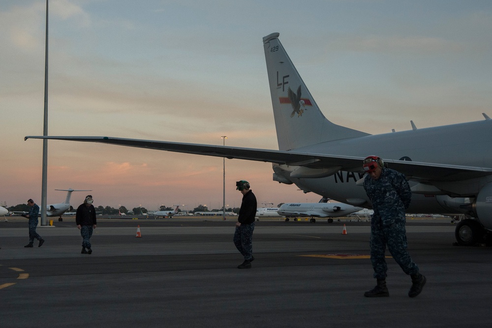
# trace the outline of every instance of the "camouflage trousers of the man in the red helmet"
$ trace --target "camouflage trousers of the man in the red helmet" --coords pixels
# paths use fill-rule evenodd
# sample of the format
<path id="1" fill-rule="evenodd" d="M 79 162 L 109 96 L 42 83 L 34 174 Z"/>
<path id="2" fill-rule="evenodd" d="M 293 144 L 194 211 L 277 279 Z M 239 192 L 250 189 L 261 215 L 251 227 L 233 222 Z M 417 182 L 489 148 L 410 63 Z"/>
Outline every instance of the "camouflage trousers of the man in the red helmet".
<path id="1" fill-rule="evenodd" d="M 403 272 L 406 274 L 419 273 L 419 267 L 413 262 L 407 251 L 405 222 L 393 223 L 387 227 L 377 224 L 371 225 L 369 245 L 374 278 L 386 278 L 386 271 L 388 270 L 385 260 L 386 246 Z"/>

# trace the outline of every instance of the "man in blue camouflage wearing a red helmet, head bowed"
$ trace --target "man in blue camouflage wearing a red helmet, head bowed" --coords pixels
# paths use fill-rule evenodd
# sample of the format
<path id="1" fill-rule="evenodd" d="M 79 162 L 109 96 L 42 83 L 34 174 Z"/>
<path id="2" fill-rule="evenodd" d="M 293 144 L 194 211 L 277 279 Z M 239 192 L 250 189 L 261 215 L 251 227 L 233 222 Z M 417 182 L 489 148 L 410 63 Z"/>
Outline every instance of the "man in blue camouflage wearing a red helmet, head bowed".
<path id="1" fill-rule="evenodd" d="M 412 191 L 405 176 L 384 167 L 383 160 L 368 156 L 363 162 L 364 189 L 372 203 L 374 214 L 371 218 L 370 260 L 374 268 L 377 285 L 364 294 L 365 297 L 390 296 L 386 287 L 386 246 L 403 272 L 412 278 L 409 297 L 422 292 L 426 277 L 419 273 L 419 267 L 407 252 L 405 231 L 405 209 L 410 205 Z"/>

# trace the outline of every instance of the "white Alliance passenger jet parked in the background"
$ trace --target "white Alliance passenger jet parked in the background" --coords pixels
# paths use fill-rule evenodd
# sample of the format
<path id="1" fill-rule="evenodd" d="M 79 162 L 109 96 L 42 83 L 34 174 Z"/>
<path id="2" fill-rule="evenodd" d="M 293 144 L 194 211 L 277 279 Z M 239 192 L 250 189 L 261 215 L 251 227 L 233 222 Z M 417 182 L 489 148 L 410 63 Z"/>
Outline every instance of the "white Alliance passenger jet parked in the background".
<path id="1" fill-rule="evenodd" d="M 322 198 L 318 203 L 286 203 L 278 208 L 278 214 L 285 216 L 285 221 L 289 217 L 310 217 L 309 222 L 316 222 L 315 217 L 328 217 L 328 222 L 333 222 L 333 217 L 347 216 L 348 214 L 362 210 L 360 207 L 343 203 L 328 203 L 326 198 Z"/>

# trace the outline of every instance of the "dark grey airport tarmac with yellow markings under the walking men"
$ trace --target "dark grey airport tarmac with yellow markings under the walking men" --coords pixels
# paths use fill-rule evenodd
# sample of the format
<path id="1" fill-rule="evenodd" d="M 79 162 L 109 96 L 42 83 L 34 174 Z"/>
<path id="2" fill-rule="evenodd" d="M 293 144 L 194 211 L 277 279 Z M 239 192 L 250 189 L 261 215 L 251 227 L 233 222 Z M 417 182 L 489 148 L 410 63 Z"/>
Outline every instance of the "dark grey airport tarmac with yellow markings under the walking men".
<path id="1" fill-rule="evenodd" d="M 363 296 L 368 222 L 257 221 L 252 268 L 238 269 L 236 219 L 98 219 L 91 255 L 73 218 L 39 227 L 33 248 L 27 220 L 0 222 L 1 327 L 490 326 L 492 248 L 453 246 L 447 219 L 407 220 L 427 277 L 416 298 L 389 254 L 390 297 Z"/>

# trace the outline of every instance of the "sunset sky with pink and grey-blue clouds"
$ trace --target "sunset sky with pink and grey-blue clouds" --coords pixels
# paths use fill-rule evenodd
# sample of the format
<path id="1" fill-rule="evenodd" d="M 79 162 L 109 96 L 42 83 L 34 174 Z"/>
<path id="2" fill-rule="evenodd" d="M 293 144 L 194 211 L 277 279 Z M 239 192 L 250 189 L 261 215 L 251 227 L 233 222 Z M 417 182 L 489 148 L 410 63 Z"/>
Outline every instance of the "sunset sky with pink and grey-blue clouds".
<path id="1" fill-rule="evenodd" d="M 371 134 L 492 117 L 492 2 L 51 0 L 49 135 L 278 149 L 263 36 L 280 33 L 324 115 Z M 1 190 L 41 203 L 44 0 L 0 1 Z M 459 138 L 459 136 L 457 136 Z M 222 206 L 222 158 L 48 143 L 48 204 Z M 457 154 L 459 156 L 459 154 Z M 226 206 L 246 179 L 261 203 L 320 196 L 225 160 Z M 73 193 L 80 204 L 87 192 Z M 268 205 L 270 206 L 270 205 Z"/>

